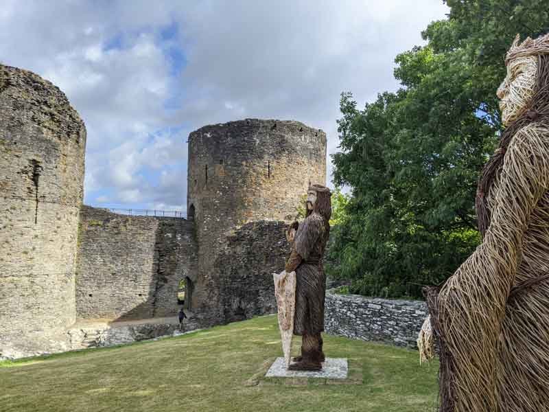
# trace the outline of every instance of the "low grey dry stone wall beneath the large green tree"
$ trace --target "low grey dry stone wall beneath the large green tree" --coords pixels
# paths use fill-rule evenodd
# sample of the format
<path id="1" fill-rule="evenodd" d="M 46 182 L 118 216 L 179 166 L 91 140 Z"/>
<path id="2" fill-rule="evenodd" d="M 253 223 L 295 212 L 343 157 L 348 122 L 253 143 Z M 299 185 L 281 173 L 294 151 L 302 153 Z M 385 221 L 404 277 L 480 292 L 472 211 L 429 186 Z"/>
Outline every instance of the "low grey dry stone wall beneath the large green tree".
<path id="1" fill-rule="evenodd" d="M 415 348 L 425 317 L 423 301 L 326 294 L 324 328 L 328 334 Z"/>

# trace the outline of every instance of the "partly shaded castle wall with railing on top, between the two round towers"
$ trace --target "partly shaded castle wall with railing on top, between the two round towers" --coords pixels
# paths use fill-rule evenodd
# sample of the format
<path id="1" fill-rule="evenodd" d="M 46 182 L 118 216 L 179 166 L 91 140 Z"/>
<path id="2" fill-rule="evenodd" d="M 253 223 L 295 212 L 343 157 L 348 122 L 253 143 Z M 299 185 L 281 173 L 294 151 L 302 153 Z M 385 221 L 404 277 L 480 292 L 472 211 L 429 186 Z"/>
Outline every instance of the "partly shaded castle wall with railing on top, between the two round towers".
<path id="1" fill-rule="evenodd" d="M 78 318 L 176 316 L 179 281 L 196 279 L 194 223 L 84 206 L 76 276 Z"/>

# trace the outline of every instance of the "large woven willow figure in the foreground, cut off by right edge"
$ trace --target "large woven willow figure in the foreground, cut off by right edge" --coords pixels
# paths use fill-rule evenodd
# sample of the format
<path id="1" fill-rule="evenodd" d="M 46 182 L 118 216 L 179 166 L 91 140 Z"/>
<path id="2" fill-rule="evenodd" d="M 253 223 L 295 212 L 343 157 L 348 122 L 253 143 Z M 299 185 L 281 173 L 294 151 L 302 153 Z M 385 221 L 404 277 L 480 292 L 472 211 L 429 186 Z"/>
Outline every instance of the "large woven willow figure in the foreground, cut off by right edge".
<path id="1" fill-rule="evenodd" d="M 422 358 L 440 350 L 442 412 L 549 411 L 549 34 L 515 39 L 498 89 L 506 130 L 476 196 L 482 244 L 425 288 Z"/>

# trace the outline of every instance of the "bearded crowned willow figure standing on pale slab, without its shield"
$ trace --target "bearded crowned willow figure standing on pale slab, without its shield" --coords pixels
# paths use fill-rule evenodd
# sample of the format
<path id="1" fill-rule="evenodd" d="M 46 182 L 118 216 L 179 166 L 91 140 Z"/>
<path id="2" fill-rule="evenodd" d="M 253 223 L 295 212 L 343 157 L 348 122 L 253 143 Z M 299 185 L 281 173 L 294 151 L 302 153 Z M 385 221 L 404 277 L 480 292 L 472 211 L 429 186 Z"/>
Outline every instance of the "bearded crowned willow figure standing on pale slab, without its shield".
<path id="1" fill-rule="evenodd" d="M 286 273 L 296 272 L 294 334 L 302 336 L 301 356 L 292 370 L 320 370 L 325 360 L 320 332 L 324 330 L 326 277 L 323 255 L 330 233 L 331 193 L 323 185 L 309 186 L 307 212 L 299 225 Z"/>

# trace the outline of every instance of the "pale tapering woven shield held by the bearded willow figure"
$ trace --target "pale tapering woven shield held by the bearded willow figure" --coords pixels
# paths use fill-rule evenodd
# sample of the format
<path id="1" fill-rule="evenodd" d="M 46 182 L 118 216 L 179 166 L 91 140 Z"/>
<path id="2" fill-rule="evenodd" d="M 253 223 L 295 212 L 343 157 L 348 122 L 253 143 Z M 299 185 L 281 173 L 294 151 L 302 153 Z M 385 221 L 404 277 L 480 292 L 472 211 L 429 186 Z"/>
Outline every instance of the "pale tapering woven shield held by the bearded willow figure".
<path id="1" fill-rule="evenodd" d="M 273 273 L 274 296 L 279 307 L 279 328 L 282 337 L 282 351 L 286 367 L 290 366 L 292 336 L 294 335 L 294 314 L 296 308 L 296 273 Z"/>

